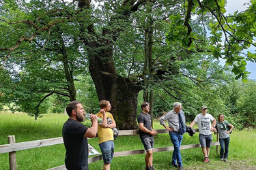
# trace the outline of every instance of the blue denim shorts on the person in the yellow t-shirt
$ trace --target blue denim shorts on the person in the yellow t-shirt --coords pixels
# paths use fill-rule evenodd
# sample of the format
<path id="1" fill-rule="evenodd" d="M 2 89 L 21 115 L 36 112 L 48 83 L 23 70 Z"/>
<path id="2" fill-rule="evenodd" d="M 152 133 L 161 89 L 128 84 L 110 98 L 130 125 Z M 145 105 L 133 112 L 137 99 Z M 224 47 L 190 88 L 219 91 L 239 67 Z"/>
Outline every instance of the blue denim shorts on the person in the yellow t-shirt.
<path id="1" fill-rule="evenodd" d="M 115 150 L 114 141 L 105 141 L 100 143 L 99 146 L 102 152 L 103 163 L 104 164 L 111 163 L 114 156 L 114 150 Z"/>

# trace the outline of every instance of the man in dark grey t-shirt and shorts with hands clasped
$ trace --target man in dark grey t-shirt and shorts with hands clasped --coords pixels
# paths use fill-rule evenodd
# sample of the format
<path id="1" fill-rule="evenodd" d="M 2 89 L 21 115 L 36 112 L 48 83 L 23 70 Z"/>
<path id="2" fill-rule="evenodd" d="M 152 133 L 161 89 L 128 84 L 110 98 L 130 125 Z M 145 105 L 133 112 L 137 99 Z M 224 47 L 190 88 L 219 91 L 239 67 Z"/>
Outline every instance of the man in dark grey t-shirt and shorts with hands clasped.
<path id="1" fill-rule="evenodd" d="M 153 150 L 154 150 L 154 135 L 156 131 L 151 126 L 150 105 L 147 102 L 141 103 L 142 112 L 137 120 L 139 124 L 139 137 L 147 154 L 145 155 L 145 170 L 154 170 L 153 167 Z"/>

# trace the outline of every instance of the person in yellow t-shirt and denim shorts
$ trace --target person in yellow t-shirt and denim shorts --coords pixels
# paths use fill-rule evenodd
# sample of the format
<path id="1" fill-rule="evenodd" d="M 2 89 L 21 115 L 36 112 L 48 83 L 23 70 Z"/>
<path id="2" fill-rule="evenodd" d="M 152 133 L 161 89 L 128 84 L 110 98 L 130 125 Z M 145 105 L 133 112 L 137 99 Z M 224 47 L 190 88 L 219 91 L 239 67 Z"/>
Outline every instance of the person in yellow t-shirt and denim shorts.
<path id="1" fill-rule="evenodd" d="M 98 139 L 99 146 L 102 152 L 103 158 L 103 169 L 109 170 L 110 164 L 114 156 L 114 136 L 113 136 L 113 128 L 115 128 L 115 120 L 109 111 L 111 110 L 111 104 L 109 101 L 102 100 L 100 101 L 100 112 L 98 112 L 97 117 L 102 118 L 102 124 L 98 124 Z M 111 118 L 112 123 L 108 124 L 107 118 Z"/>

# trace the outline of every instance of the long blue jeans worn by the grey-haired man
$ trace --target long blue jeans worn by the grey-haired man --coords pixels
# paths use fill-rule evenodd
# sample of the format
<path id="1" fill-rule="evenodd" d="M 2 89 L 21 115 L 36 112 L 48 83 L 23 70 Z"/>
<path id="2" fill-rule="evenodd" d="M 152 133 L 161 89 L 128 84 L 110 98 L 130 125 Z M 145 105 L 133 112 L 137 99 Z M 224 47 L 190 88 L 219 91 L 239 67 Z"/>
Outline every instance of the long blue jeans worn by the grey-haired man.
<path id="1" fill-rule="evenodd" d="M 175 132 L 169 132 L 169 135 L 171 137 L 171 142 L 173 143 L 173 148 L 174 148 L 173 159 L 171 160 L 171 163 L 175 164 L 177 160 L 177 165 L 183 166 L 182 156 L 180 155 L 180 146 L 182 145 L 183 136 Z"/>

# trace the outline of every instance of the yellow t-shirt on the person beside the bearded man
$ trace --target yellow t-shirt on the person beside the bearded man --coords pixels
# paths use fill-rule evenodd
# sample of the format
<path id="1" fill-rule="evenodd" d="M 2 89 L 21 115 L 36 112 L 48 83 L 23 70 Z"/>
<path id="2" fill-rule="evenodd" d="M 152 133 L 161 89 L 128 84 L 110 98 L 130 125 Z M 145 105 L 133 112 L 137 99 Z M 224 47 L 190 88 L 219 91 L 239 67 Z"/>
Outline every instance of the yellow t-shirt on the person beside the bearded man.
<path id="1" fill-rule="evenodd" d="M 98 118 L 103 119 L 103 114 L 101 112 L 98 112 L 98 114 L 96 115 Z M 109 112 L 106 112 L 106 118 L 111 118 L 112 122 L 114 120 L 112 114 Z M 102 128 L 100 125 L 98 125 L 98 139 L 99 139 L 99 143 L 102 143 L 105 141 L 113 141 L 114 140 L 113 130 L 111 128 Z"/>

